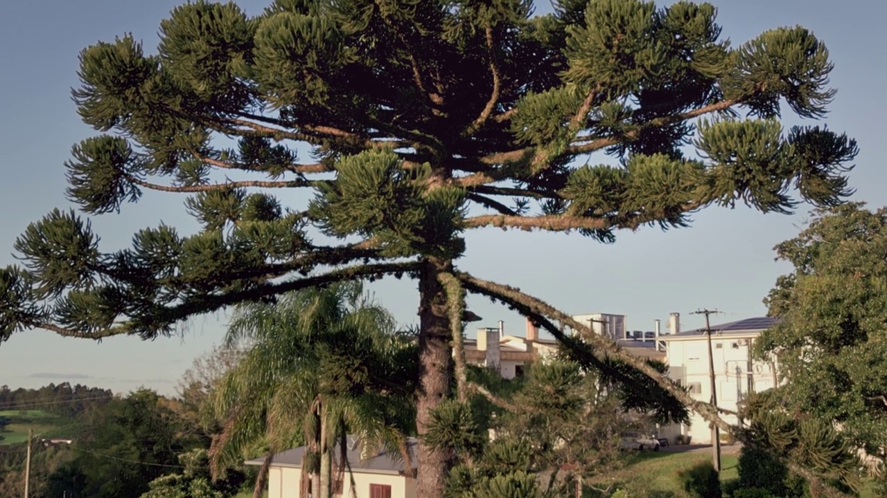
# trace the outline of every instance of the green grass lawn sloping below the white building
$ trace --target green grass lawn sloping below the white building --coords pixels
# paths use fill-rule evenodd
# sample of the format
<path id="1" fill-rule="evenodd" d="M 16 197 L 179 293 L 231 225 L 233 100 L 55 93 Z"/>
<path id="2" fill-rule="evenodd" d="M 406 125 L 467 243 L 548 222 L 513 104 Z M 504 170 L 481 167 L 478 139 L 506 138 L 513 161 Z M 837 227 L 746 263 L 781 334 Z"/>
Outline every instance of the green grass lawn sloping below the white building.
<path id="1" fill-rule="evenodd" d="M 635 462 L 621 471 L 593 479 L 593 484 L 603 488 L 614 484 L 614 490 L 623 488 L 632 497 L 679 498 L 686 495 L 681 488 L 679 472 L 691 469 L 698 463 L 710 461 L 709 453 L 664 451 L 641 453 Z M 721 482 L 738 477 L 736 463 L 735 455 L 721 456 Z M 588 489 L 585 496 L 593 498 L 597 494 Z"/>

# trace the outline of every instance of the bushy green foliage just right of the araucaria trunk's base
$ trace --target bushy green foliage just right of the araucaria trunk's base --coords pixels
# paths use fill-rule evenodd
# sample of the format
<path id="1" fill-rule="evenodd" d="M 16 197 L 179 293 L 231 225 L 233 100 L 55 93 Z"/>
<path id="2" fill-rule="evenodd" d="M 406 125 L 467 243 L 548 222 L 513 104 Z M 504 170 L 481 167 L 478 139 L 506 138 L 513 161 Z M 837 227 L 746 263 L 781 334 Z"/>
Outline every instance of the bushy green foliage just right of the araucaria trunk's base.
<path id="1" fill-rule="evenodd" d="M 497 385 L 492 407 L 448 401 L 435 410 L 427 440 L 450 448 L 458 463 L 447 496 L 557 496 L 624 464 L 624 412 L 597 377 L 575 362 L 537 362 L 515 384 Z"/>

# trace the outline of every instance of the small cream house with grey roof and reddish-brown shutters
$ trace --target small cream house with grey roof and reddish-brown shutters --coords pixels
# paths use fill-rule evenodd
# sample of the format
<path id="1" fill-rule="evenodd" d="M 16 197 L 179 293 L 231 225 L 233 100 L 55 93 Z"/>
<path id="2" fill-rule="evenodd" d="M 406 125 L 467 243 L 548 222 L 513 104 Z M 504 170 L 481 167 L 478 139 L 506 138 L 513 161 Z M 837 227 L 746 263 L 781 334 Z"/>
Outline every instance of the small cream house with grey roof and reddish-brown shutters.
<path id="1" fill-rule="evenodd" d="M 415 447 L 418 440 L 409 438 L 407 448 L 411 456 L 411 471 L 404 471 L 404 458 L 380 452 L 368 459 L 361 459 L 359 441 L 348 437 L 348 466 L 339 462 L 340 452 L 334 452 L 334 496 L 357 498 L 417 498 L 416 470 L 418 463 Z M 309 483 L 302 479 L 302 459 L 305 447 L 295 447 L 274 455 L 268 468 L 268 498 L 307 498 Z M 247 460 L 247 465 L 261 466 L 264 458 Z M 350 467 L 350 471 L 348 470 Z M 353 493 L 352 493 L 353 489 Z"/>

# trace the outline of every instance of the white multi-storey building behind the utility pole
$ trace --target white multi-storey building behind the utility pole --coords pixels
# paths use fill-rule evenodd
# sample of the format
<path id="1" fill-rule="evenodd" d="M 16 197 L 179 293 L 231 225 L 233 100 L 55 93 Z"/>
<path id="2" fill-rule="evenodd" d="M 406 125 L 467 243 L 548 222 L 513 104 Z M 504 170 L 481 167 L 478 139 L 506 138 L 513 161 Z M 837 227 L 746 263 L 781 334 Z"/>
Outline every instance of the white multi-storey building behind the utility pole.
<path id="1" fill-rule="evenodd" d="M 739 401 L 748 393 L 761 392 L 777 384 L 777 365 L 751 358 L 751 346 L 762 331 L 778 322 L 771 317 L 757 317 L 711 326 L 711 356 L 714 360 L 715 393 L 718 408 L 735 412 Z M 709 375 L 709 346 L 706 331 L 679 331 L 659 336 L 665 344 L 669 376 L 689 388 L 699 401 L 711 400 Z M 731 424 L 738 424 L 736 416 L 723 415 Z M 689 426 L 679 427 L 679 433 L 690 436 L 695 444 L 711 444 L 709 423 L 693 413 Z M 677 431 L 676 431 L 677 432 Z"/>

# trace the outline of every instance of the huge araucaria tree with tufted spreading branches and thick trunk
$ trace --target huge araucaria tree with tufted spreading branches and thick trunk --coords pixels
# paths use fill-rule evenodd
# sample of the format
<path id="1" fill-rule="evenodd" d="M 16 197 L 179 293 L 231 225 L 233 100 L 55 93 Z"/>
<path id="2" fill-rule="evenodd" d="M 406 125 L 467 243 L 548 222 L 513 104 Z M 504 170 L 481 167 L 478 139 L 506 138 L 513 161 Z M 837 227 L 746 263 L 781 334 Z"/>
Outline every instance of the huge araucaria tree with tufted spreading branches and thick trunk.
<path id="1" fill-rule="evenodd" d="M 731 48 L 710 4 L 561 0 L 555 11 L 536 16 L 521 0 L 274 0 L 249 17 L 199 1 L 161 21 L 156 53 L 130 36 L 90 46 L 74 98 L 102 135 L 74 146 L 68 198 L 105 214 L 146 190 L 190 194 L 204 230 L 161 225 L 103 253 L 80 215 L 48 214 L 15 244 L 23 266 L 0 273 L 0 335 L 153 338 L 244 300 L 408 275 L 420 291 L 424 434 L 451 396 L 461 339 L 451 317 L 465 291 L 559 338 L 553 319 L 585 330 L 459 271 L 466 230 L 612 242 L 620 229 L 686 226 L 707 206 L 787 212 L 849 193 L 852 139 L 778 121 L 783 111 L 821 118 L 835 95 L 828 51 L 805 28 Z M 618 166 L 596 166 L 595 152 Z M 282 206 L 274 192 L 287 189 L 313 198 Z M 317 230 L 341 244 L 316 242 Z M 622 359 L 714 417 L 658 370 L 587 340 L 588 362 Z M 444 453 L 421 446 L 418 460 L 419 494 L 441 496 Z"/>

